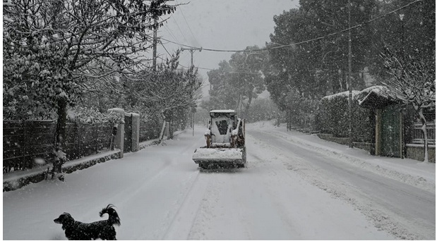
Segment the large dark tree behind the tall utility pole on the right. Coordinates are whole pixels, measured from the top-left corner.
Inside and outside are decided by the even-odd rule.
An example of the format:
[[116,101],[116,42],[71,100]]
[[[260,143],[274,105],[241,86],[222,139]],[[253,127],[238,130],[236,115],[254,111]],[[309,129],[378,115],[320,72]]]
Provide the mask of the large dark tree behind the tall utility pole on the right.
[[[375,0],[351,1],[351,25],[370,20],[375,13]],[[270,63],[282,72],[284,79],[305,96],[321,98],[347,89],[348,1],[301,1],[299,8],[274,16],[275,31],[267,47]],[[371,47],[369,25],[352,30],[352,87],[364,87],[359,73],[366,67]],[[337,33],[337,34],[334,34]],[[318,39],[319,38],[319,39]],[[317,41],[308,41],[318,39]],[[296,45],[283,47],[282,45]]]

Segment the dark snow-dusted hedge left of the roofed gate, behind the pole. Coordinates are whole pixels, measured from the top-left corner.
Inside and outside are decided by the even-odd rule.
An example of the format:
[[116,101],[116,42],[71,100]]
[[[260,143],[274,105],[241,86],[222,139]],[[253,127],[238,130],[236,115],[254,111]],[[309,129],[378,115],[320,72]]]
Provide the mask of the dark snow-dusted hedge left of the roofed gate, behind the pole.
[[[354,142],[374,142],[375,117],[373,111],[359,106],[352,92],[352,135]],[[316,127],[322,133],[349,137],[349,92],[341,92],[321,99]]]

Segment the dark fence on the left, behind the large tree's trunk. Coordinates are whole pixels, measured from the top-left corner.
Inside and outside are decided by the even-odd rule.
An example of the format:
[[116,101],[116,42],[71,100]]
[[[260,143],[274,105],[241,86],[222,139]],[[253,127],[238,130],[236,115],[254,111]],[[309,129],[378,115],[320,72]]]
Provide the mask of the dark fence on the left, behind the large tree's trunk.
[[[64,152],[69,160],[109,148],[112,125],[68,123],[66,128]],[[55,137],[56,121],[4,121],[3,173],[33,168],[54,159]]]

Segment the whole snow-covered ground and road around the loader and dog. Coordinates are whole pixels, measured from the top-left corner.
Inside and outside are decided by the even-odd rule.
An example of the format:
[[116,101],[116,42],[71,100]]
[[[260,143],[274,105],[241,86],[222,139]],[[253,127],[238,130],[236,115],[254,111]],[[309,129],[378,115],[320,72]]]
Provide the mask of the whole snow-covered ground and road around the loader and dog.
[[[200,171],[204,128],[124,159],[3,193],[4,240],[65,240],[53,219],[100,220],[116,206],[119,240],[436,238],[436,166],[246,125],[247,168]],[[107,216],[104,216],[107,218]]]

